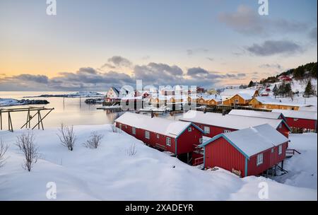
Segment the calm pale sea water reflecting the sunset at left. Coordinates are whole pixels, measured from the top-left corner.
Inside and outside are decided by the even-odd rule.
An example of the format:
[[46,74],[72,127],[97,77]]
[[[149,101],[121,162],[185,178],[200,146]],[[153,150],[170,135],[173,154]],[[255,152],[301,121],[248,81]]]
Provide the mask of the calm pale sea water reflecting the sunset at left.
[[[61,95],[75,92],[4,92],[0,91],[0,98],[23,99],[25,96],[36,96],[42,94]],[[104,93],[105,92],[100,92]],[[35,107],[55,108],[44,120],[44,127],[59,127],[61,123],[67,125],[83,124],[107,124],[114,122],[122,112],[110,112],[107,110],[97,110],[101,105],[88,105],[84,101],[86,98],[29,98],[30,100],[48,100],[47,105],[32,105]],[[12,106],[5,108],[25,108],[29,105]],[[42,116],[45,112],[41,113]],[[26,122],[26,112],[13,112],[11,114],[13,129],[20,129]],[[33,124],[35,125],[36,120]],[[31,124],[32,125],[32,124]],[[8,117],[3,114],[4,129],[8,129]]]

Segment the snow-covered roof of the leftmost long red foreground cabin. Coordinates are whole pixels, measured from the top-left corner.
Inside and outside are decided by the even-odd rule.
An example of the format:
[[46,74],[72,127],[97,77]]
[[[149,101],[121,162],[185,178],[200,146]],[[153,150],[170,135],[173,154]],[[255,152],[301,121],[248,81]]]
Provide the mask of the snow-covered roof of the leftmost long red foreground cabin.
[[187,129],[191,122],[181,122],[175,120],[167,120],[159,117],[148,115],[141,115],[132,112],[125,112],[122,116],[118,117],[115,122],[127,124],[131,127],[145,129],[150,132],[164,134],[173,138],[181,134],[184,129]]

